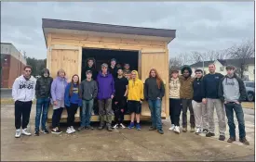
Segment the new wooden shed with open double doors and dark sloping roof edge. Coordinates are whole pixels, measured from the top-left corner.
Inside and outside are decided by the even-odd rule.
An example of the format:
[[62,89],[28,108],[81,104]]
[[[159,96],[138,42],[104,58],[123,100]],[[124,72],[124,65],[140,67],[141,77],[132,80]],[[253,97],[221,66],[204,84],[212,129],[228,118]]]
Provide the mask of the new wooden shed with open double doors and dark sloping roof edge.
[[[93,56],[97,65],[115,57],[128,62],[137,69],[141,81],[155,68],[166,84],[166,95],[162,103],[162,118],[168,113],[168,44],[175,38],[175,30],[128,27],[109,24],[78,22],[59,19],[43,19],[47,44],[47,69],[56,77],[58,69],[64,69],[71,78],[81,76],[86,59]],[[49,108],[48,118],[52,117]],[[64,110],[61,118],[66,118]],[[149,119],[150,110],[146,102],[142,105],[141,119]],[[92,116],[97,121],[98,116]],[[79,111],[75,120],[79,120]],[[125,116],[129,120],[129,115]]]

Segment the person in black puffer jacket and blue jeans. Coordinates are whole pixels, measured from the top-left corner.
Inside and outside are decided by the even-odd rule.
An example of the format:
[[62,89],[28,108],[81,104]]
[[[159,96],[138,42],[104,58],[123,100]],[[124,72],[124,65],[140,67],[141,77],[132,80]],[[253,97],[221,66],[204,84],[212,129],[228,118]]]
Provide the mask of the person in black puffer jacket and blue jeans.
[[39,125],[41,120],[41,113],[43,110],[41,129],[44,133],[48,133],[46,122],[47,112],[50,103],[50,86],[53,79],[49,76],[49,70],[43,69],[41,78],[37,79],[35,84],[35,95],[36,95],[36,115],[35,115],[35,131],[34,135],[39,135]]

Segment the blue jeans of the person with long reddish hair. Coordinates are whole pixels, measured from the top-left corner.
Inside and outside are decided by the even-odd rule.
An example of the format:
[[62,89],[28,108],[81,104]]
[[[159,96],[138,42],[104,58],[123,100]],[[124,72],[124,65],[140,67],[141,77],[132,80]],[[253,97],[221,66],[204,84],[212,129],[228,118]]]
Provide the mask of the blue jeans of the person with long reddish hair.
[[157,130],[162,130],[162,100],[148,100],[149,109],[151,111],[152,127]]

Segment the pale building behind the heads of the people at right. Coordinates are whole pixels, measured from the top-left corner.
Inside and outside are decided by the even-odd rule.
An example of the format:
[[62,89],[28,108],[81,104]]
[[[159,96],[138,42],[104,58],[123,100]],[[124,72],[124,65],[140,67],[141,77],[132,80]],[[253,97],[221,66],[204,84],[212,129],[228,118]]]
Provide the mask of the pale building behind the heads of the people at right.
[[[203,62],[196,62],[195,64],[192,64],[190,67],[193,71],[193,76],[195,76],[195,69],[204,69],[205,74],[209,73],[208,66],[209,64],[214,64],[216,67],[216,72],[221,73],[222,75],[226,75],[226,66],[227,65],[233,65],[236,67],[236,69],[240,69],[242,63],[245,64],[245,70],[244,70],[244,81],[254,81],[254,75],[255,75],[255,62],[254,57],[248,58],[248,59],[217,59],[215,61],[204,61]],[[204,68],[203,68],[204,67]],[[239,70],[237,70],[239,72]]]

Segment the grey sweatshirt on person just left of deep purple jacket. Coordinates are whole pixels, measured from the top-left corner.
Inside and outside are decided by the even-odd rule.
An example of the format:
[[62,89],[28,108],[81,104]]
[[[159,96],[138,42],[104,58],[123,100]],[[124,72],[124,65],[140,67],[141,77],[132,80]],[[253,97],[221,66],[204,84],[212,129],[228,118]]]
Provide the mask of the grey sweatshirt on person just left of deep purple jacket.
[[98,85],[96,81],[82,81],[80,84],[80,93],[83,100],[91,100],[97,97]]

